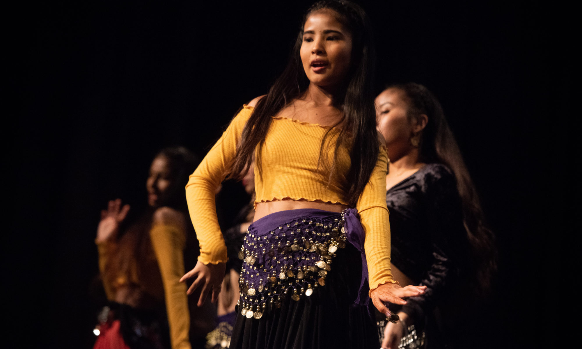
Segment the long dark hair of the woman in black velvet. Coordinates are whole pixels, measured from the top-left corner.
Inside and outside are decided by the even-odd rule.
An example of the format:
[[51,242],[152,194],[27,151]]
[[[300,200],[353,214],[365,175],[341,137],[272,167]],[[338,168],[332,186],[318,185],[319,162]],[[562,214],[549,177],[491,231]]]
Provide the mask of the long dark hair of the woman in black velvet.
[[445,113],[437,97],[428,88],[417,83],[395,84],[395,88],[408,98],[408,117],[425,114],[427,126],[420,137],[419,160],[425,163],[442,163],[455,175],[457,190],[463,209],[463,225],[472,247],[475,291],[485,295],[491,289],[492,275],[496,270],[494,234],[485,224],[481,202],[469,170],[463,161],[459,146],[446,122]]

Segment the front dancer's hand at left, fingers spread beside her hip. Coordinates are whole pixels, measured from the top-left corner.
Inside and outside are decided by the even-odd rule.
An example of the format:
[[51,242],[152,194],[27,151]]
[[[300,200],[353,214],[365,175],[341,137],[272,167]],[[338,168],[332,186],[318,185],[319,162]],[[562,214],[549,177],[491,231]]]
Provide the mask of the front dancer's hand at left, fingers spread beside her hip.
[[222,289],[222,280],[224,279],[225,270],[225,263],[204,264],[203,262],[198,261],[194,269],[182,276],[180,282],[185,282],[187,279],[193,277],[195,278],[186,293],[190,295],[198,287],[202,286],[200,298],[198,299],[198,307],[202,307],[210,291],[212,291],[212,302],[215,303],[218,300],[218,294]]

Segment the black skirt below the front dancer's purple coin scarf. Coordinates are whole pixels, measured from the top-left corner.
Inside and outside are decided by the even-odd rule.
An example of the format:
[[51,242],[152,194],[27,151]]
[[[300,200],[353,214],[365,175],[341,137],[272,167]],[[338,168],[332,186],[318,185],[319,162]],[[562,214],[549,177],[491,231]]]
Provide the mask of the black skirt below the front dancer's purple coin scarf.
[[325,285],[314,287],[310,297],[296,301],[288,294],[280,298],[280,308],[268,304],[260,319],[242,316],[237,307],[230,348],[378,349],[371,302],[355,303],[361,273],[360,251],[347,243],[333,258]]

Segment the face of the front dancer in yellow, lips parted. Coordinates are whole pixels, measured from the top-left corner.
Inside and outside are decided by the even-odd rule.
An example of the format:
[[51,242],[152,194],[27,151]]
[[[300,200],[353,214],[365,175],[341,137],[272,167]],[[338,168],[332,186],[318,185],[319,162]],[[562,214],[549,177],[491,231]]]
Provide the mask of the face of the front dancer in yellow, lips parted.
[[352,56],[352,33],[333,10],[319,10],[303,26],[301,62],[307,79],[318,86],[335,86],[346,78]]

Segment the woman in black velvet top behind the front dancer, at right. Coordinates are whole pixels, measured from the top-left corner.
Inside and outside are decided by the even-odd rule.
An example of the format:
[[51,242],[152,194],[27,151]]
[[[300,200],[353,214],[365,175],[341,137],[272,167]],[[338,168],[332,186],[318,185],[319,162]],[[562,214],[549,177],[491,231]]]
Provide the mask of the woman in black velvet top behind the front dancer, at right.
[[382,348],[398,348],[412,326],[419,339],[426,333],[429,348],[451,347],[455,334],[446,328],[445,304],[467,283],[477,294],[487,292],[495,270],[493,235],[434,95],[407,83],[386,88],[375,102],[389,157],[392,272],[402,286],[428,287],[398,312],[402,321],[388,322]]

